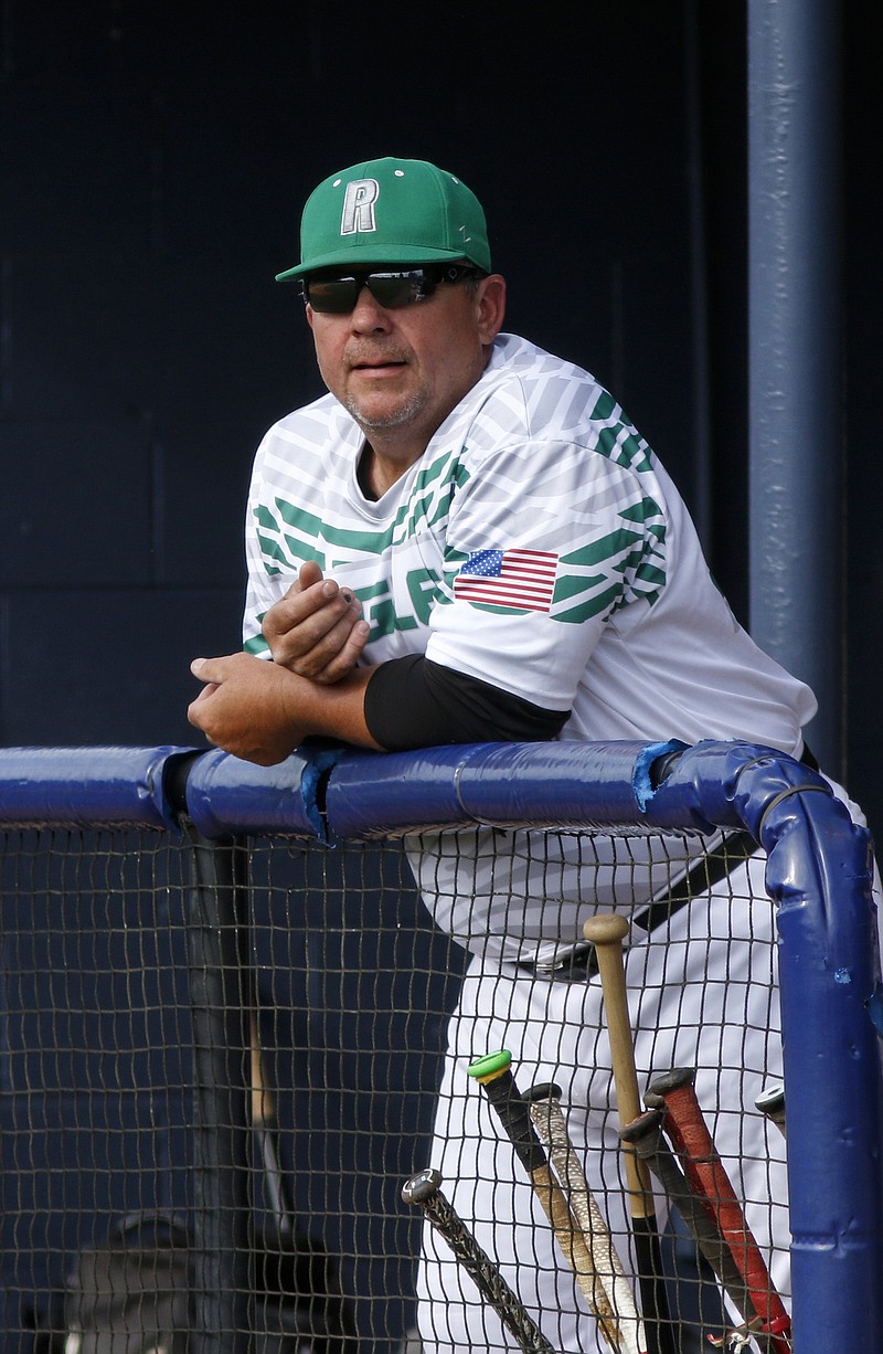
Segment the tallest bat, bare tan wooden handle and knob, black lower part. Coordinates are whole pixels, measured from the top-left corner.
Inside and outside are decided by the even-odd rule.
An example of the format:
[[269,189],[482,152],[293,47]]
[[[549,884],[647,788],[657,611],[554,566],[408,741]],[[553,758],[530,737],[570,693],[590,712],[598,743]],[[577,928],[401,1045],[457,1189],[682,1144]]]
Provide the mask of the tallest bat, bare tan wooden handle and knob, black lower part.
[[[641,1113],[622,953],[622,941],[627,930],[629,923],[618,913],[599,913],[591,917],[583,927],[586,940],[592,942],[598,956],[621,1128],[625,1128]],[[648,1343],[652,1354],[677,1354],[665,1290],[650,1174],[630,1143],[622,1144],[622,1155]]]

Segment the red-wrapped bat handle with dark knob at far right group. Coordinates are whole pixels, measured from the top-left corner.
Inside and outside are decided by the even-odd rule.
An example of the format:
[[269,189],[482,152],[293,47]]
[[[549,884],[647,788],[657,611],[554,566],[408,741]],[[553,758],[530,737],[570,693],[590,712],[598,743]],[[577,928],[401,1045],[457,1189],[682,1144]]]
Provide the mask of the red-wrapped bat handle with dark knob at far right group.
[[772,1286],[769,1270],[703,1118],[694,1089],[695,1076],[695,1068],[675,1068],[657,1078],[650,1093],[665,1102],[665,1132],[683,1160],[687,1178],[717,1217],[771,1349],[776,1354],[791,1354],[791,1317]]

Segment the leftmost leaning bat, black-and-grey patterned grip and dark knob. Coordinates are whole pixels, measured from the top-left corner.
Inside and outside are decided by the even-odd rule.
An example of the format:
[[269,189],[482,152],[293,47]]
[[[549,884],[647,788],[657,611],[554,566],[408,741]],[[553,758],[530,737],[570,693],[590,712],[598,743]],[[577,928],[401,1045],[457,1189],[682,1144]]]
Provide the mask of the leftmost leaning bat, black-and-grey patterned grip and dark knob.
[[491,1304],[525,1354],[554,1354],[552,1345],[521,1298],[508,1286],[494,1261],[441,1192],[441,1174],[431,1167],[418,1171],[402,1186],[406,1204],[415,1204],[454,1252],[460,1265]]

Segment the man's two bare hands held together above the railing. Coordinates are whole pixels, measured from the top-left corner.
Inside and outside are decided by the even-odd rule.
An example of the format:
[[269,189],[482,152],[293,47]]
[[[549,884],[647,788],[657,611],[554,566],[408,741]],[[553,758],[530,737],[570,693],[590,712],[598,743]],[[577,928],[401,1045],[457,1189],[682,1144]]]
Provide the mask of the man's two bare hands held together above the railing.
[[308,734],[334,731],[316,727],[316,696],[353,672],[369,626],[358,598],[310,562],[266,612],[262,632],[272,663],[243,653],[193,659],[206,686],[187,716],[215,746],[272,766]]

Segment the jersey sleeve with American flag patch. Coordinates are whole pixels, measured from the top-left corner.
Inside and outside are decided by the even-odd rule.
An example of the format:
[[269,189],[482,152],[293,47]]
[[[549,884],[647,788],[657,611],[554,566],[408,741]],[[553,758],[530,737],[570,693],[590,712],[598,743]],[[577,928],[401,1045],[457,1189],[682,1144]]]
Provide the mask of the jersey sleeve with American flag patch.
[[665,585],[667,519],[646,444],[525,441],[475,466],[452,506],[426,650],[544,708],[569,709],[604,624]]

